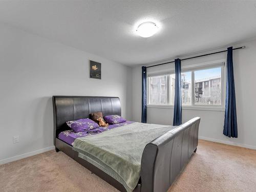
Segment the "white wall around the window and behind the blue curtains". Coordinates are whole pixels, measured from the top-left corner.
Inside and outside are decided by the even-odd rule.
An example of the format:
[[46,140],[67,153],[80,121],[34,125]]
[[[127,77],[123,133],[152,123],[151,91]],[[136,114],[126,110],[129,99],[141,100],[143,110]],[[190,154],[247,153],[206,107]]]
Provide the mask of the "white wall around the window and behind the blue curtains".
[[[228,138],[223,135],[224,111],[183,109],[182,122],[199,116],[201,117],[199,129],[199,137],[201,139],[256,149],[256,41],[244,42],[243,44],[234,45],[233,47],[236,48],[241,46],[246,46],[246,49],[233,51],[234,78],[236,82],[237,97],[238,138]],[[181,65],[184,67],[219,59],[226,59],[226,53],[182,61]],[[174,68],[173,64],[159,66],[154,69],[148,68],[148,70],[154,71],[171,68]],[[133,68],[133,120],[140,121],[140,119],[141,66],[138,66]],[[148,108],[147,122],[172,124],[173,109]]]

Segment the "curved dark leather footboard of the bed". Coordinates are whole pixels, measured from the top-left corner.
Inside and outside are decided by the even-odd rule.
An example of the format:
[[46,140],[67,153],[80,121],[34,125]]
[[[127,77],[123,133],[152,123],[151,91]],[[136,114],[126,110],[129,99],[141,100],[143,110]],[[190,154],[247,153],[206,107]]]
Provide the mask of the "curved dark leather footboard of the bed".
[[141,160],[141,191],[166,192],[198,145],[195,117],[148,143]]

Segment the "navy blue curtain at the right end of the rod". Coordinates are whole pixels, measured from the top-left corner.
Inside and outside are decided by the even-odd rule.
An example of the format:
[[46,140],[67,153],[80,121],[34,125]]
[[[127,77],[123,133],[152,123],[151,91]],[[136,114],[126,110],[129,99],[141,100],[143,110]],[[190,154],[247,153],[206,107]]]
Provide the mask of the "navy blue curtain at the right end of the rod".
[[233,48],[227,48],[226,106],[223,134],[238,137],[236,92],[234,91]]

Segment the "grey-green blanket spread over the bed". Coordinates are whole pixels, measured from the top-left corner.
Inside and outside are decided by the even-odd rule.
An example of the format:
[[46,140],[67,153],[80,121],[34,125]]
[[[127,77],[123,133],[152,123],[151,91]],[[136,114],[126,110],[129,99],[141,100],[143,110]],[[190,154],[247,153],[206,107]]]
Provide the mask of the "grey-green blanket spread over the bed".
[[79,157],[97,166],[133,191],[140,178],[140,164],[147,143],[175,126],[132,123],[103,133],[80,137],[73,149]]

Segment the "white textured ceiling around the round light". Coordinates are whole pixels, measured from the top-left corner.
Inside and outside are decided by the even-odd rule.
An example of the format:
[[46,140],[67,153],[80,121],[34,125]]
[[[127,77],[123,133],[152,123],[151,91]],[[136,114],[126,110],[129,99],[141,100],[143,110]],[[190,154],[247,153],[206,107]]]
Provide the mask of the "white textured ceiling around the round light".
[[0,22],[131,66],[255,37],[256,1],[1,1]]

